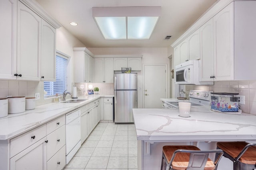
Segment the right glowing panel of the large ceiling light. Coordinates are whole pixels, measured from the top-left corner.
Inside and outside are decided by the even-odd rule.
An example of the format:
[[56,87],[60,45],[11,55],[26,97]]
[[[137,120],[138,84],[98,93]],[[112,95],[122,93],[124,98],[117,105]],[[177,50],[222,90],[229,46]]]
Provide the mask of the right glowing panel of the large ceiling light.
[[149,39],[158,17],[128,17],[128,39]]

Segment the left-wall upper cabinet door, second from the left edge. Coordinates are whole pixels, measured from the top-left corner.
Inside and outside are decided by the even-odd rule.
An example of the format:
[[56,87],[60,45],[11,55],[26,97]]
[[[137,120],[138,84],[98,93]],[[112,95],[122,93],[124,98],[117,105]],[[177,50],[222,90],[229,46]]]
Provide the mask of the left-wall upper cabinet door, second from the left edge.
[[18,1],[18,80],[40,80],[41,18]]

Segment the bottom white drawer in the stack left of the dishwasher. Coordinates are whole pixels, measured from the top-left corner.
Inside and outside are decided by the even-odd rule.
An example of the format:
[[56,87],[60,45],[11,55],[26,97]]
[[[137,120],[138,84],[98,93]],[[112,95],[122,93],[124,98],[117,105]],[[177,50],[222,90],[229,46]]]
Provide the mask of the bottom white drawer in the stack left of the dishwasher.
[[62,170],[66,165],[66,145],[47,162],[47,170]]

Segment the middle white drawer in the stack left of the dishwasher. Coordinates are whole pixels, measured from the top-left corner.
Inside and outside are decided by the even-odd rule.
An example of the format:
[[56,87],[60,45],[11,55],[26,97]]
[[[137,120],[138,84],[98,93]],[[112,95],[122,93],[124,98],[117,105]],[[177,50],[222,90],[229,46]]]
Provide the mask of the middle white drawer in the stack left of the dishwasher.
[[65,125],[47,135],[47,160],[49,160],[66,143]]

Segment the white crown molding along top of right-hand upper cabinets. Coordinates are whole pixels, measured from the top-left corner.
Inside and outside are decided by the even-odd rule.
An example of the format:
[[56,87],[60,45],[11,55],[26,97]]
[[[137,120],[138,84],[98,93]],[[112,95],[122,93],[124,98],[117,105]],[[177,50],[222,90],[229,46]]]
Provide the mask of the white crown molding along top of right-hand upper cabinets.
[[224,9],[228,4],[230,4],[234,0],[219,0],[214,3],[202,16],[194,22],[194,24],[189,27],[185,33],[183,33],[174,43],[172,43],[172,47],[176,47],[179,43],[181,43],[184,39],[186,39],[191,33],[196,31],[199,27],[204,25],[208,20],[210,20],[213,16],[215,16],[218,12]]

